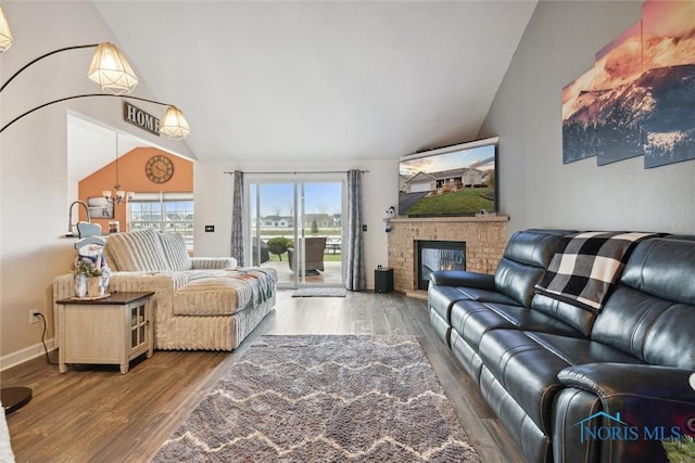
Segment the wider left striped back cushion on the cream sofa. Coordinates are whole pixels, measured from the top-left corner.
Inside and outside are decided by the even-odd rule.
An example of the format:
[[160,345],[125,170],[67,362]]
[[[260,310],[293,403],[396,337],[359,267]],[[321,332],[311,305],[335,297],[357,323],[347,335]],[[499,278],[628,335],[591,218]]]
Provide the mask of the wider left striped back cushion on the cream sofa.
[[153,229],[109,235],[110,256],[121,271],[168,271],[159,232]]

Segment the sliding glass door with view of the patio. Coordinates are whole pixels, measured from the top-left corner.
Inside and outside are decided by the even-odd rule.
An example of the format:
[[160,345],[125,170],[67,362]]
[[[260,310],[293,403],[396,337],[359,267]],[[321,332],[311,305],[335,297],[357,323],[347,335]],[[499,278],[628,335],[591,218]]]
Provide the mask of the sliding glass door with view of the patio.
[[343,177],[247,175],[250,261],[280,287],[343,285]]

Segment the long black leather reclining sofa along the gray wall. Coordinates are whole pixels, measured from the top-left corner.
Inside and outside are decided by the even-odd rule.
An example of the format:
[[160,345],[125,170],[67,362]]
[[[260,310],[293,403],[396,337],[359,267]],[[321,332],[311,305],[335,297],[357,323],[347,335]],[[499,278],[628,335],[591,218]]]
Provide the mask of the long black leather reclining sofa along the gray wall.
[[528,461],[667,462],[695,436],[695,236],[639,242],[590,310],[535,287],[571,233],[515,233],[494,275],[433,272],[431,322]]

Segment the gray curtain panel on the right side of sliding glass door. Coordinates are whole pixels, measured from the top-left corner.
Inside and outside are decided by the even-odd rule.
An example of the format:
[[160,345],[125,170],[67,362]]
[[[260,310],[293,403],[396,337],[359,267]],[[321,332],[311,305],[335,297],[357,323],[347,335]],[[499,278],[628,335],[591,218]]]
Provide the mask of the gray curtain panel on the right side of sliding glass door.
[[362,232],[362,171],[348,171],[348,237],[345,249],[344,281],[350,291],[367,288],[365,249]]

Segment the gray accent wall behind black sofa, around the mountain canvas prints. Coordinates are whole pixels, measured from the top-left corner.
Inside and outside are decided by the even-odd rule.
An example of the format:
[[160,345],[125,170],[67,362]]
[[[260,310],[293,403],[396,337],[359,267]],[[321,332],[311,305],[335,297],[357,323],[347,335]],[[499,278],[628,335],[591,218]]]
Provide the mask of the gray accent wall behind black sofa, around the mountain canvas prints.
[[508,236],[549,227],[695,234],[695,160],[655,169],[644,169],[642,156],[563,165],[563,87],[590,69],[641,10],[641,1],[538,3],[479,133],[500,136]]

